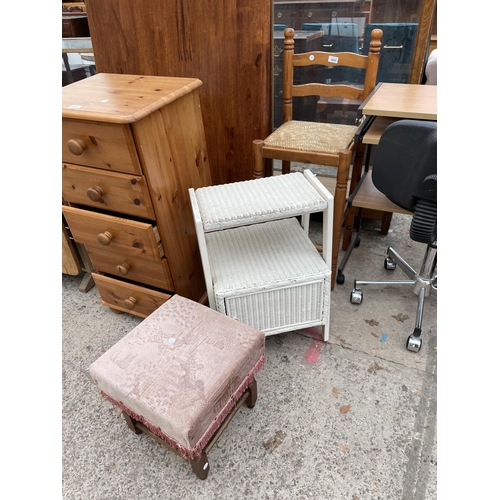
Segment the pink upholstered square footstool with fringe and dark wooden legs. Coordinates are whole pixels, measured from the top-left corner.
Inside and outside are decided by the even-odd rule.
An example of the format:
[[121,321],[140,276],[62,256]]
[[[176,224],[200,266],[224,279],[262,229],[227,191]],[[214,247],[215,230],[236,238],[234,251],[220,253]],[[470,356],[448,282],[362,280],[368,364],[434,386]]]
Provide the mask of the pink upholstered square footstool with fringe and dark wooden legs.
[[236,411],[257,398],[262,332],[175,295],[90,366],[128,426],[188,460],[201,479],[207,453]]

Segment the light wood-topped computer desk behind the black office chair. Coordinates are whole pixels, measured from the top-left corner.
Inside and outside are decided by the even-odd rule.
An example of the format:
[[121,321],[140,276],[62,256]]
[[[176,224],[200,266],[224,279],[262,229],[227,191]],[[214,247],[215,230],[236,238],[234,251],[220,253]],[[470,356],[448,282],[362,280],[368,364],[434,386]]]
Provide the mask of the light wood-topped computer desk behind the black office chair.
[[[379,83],[365,99],[358,110],[358,116],[365,116],[357,132],[356,140],[367,144],[365,170],[369,167],[371,147],[376,146],[384,130],[397,120],[437,120],[437,86],[405,83]],[[361,172],[353,172],[350,192],[356,187]],[[380,210],[387,204],[381,204]],[[383,210],[384,211],[384,210]],[[387,234],[392,212],[382,217],[382,234]],[[346,216],[342,238],[342,249],[347,250],[352,236],[354,212]]]

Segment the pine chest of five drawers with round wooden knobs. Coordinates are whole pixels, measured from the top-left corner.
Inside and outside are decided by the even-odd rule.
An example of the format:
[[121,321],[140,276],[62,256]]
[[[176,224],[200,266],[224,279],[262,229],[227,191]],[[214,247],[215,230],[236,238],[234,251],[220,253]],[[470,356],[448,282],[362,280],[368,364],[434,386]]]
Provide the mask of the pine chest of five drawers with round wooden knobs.
[[201,84],[100,73],[62,89],[62,210],[116,312],[206,298],[188,194],[211,184]]

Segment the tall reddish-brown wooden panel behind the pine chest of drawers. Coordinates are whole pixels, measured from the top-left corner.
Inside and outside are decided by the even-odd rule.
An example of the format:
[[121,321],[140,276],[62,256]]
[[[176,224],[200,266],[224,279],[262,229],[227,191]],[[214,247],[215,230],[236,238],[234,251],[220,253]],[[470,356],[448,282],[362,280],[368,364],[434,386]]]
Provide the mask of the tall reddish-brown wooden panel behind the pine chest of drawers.
[[271,132],[269,0],[87,0],[98,72],[199,78],[214,183],[253,177]]

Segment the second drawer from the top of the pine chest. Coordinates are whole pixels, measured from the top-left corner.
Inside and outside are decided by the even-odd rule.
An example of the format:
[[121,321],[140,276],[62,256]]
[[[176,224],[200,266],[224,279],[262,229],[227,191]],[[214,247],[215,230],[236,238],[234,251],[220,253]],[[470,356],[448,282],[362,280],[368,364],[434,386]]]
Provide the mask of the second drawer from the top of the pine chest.
[[146,180],[142,176],[63,163],[62,195],[70,203],[155,219]]

